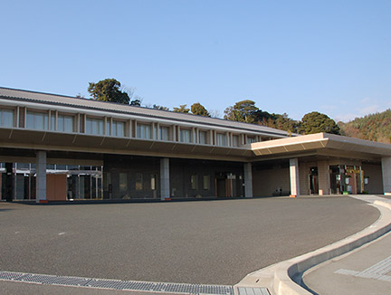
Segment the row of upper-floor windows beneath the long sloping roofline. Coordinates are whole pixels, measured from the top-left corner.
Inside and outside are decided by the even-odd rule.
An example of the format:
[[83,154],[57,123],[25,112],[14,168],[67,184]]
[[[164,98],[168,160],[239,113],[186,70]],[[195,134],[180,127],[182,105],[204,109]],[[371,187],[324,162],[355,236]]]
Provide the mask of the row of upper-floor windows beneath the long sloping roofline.
[[[20,111],[22,115],[22,111]],[[220,147],[240,147],[245,143],[257,141],[255,136],[241,134],[222,133],[214,130],[202,130],[198,128],[182,128],[180,126],[164,126],[154,123],[130,122],[117,119],[100,119],[86,115],[62,114],[57,111],[40,112],[26,109],[25,128],[35,130],[51,130],[66,133],[81,132],[85,134],[113,137],[134,137],[141,139],[157,139],[164,141],[179,141],[182,143],[197,143],[203,145],[216,145]],[[0,127],[14,127],[21,125],[16,122],[15,109],[0,109]],[[15,124],[16,123],[16,124]],[[132,125],[133,124],[133,125]],[[134,131],[130,132],[134,126]]]

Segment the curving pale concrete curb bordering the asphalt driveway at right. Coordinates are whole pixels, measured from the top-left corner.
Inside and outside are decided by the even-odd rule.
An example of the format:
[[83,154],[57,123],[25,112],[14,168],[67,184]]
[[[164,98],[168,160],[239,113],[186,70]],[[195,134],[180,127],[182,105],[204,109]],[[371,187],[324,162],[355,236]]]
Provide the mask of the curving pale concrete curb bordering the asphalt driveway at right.
[[374,224],[361,232],[352,234],[336,243],[331,243],[313,252],[309,252],[287,261],[279,262],[259,271],[254,271],[236,284],[238,287],[268,288],[275,295],[310,295],[300,287],[301,275],[311,267],[334,257],[350,252],[365,243],[377,239],[391,230],[391,203],[375,201],[380,217]]

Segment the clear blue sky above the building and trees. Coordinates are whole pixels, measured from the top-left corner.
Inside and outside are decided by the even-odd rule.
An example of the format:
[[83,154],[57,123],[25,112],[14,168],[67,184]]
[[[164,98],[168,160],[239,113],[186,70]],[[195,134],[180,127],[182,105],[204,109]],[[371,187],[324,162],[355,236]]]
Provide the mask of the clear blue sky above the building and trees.
[[293,119],[391,108],[391,1],[0,0],[0,86],[145,104],[254,100]]

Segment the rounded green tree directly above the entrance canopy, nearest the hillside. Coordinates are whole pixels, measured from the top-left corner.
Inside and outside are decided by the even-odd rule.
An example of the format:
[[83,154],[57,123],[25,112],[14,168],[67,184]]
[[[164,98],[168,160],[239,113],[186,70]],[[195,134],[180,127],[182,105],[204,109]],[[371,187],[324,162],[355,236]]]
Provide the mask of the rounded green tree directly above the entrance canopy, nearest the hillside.
[[301,134],[313,134],[319,132],[340,134],[337,123],[329,116],[318,111],[305,114],[300,121],[299,131]]

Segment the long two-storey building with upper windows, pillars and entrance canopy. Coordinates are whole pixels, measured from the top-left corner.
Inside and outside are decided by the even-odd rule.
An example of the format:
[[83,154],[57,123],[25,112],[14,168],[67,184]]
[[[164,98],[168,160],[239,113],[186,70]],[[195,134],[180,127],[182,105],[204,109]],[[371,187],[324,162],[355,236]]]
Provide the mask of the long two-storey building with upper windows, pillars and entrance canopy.
[[1,198],[391,192],[391,146],[0,88]]

